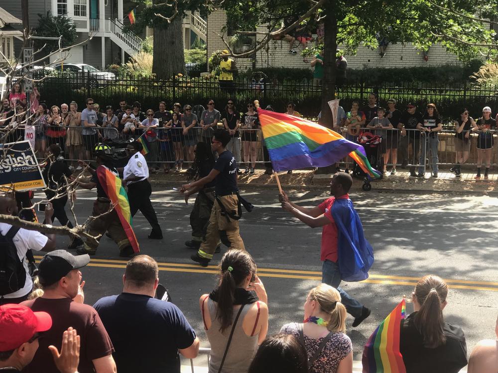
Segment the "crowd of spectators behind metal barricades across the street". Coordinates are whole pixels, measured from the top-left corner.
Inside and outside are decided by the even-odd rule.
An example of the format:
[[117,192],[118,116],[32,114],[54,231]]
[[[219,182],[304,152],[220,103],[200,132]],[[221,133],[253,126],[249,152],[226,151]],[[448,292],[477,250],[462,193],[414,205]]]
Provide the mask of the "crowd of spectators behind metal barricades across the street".
[[[318,54],[314,64],[321,65],[321,58],[322,55]],[[206,100],[206,107],[174,103],[168,109],[166,103],[160,101],[153,109],[142,108],[140,102],[128,103],[126,100],[120,101],[119,108],[112,105],[101,108],[92,98],[88,98],[85,107],[79,111],[78,103],[74,101],[61,103],[60,107],[47,107],[40,101],[36,90],[30,94],[27,110],[26,98],[21,84],[17,83],[2,100],[2,132],[8,132],[7,139],[11,142],[29,139],[40,158],[44,158],[50,145],[58,144],[62,155],[72,162],[71,171],[81,170],[76,160],[91,159],[98,143],[124,148],[126,140],[142,137],[147,144],[146,160],[151,173],[161,167],[165,173],[180,172],[191,167],[197,142],[209,144],[213,130],[220,126],[230,132],[228,149],[242,165],[238,169],[239,175],[254,174],[256,163],[261,161],[266,173],[272,172],[260,131],[257,100],[239,103],[229,99],[224,103],[224,109],[219,110],[212,99]],[[366,148],[370,153],[370,163],[385,176],[396,174],[396,167],[409,166],[411,177],[424,178],[430,169],[431,177],[437,178],[443,126],[436,105],[429,103],[422,108],[408,103],[406,107],[397,108],[396,104],[396,99],[390,98],[386,108],[379,107],[377,96],[371,93],[364,106],[359,101],[353,101],[349,110],[339,106],[333,128],[350,141],[368,143]],[[274,110],[270,105],[266,109]],[[289,115],[301,116],[293,102],[282,109]],[[318,118],[320,124],[331,126],[321,120],[321,113]],[[442,160],[453,166],[450,171],[455,177],[461,176],[462,166],[476,152],[475,178],[489,178],[497,119],[498,115],[493,116],[489,106],[484,107],[482,113],[475,113],[474,117],[462,108],[454,120],[454,131],[451,133],[454,158]],[[352,159],[346,157],[342,163],[347,173],[356,173]]]

